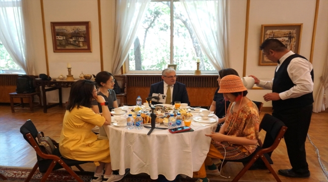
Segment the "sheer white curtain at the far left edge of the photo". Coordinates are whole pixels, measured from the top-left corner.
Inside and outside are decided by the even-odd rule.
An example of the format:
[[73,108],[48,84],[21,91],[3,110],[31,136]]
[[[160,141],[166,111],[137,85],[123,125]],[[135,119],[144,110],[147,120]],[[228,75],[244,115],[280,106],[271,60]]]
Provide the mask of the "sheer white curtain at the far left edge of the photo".
[[[23,1],[25,2],[23,3]],[[27,55],[32,46],[30,46],[31,41],[26,39],[26,37],[31,35],[28,34],[26,36],[25,32],[25,24],[28,25],[28,22],[24,23],[24,20],[28,19],[25,3],[27,3],[26,0],[0,0],[0,40],[13,58],[13,61],[26,74],[34,75],[32,56]],[[29,47],[29,50],[27,50],[27,47]],[[30,53],[33,54],[33,52]]]

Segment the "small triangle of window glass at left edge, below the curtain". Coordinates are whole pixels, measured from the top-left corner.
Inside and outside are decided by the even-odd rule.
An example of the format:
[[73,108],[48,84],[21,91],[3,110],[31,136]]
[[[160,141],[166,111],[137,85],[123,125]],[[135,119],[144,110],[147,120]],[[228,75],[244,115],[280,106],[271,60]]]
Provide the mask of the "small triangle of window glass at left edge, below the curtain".
[[13,61],[4,44],[0,40],[0,73],[22,71],[21,68]]

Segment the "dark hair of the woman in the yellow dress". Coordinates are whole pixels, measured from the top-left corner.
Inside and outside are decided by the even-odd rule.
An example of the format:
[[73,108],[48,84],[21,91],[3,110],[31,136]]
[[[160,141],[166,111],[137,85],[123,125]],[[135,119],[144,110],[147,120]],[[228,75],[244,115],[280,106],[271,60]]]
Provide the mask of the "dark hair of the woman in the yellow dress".
[[91,108],[93,98],[93,89],[96,82],[90,80],[78,80],[72,84],[70,98],[68,99],[66,110],[72,111],[75,107],[80,106]]

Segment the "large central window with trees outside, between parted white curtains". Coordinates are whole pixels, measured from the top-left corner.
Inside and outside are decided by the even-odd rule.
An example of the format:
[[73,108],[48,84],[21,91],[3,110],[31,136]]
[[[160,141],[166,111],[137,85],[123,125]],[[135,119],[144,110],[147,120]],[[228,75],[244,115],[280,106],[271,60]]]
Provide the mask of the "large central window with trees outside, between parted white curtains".
[[159,72],[176,64],[177,72],[193,73],[197,57],[200,70],[214,72],[179,1],[153,1],[145,11],[130,48],[128,72]]

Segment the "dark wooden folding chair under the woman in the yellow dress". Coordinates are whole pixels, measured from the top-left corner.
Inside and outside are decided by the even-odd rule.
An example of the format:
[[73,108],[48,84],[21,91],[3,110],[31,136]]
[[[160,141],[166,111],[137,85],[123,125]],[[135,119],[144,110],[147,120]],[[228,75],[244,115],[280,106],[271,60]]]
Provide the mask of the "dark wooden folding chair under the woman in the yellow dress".
[[23,134],[24,139],[33,147],[36,152],[36,155],[38,156],[38,161],[35,163],[32,171],[27,176],[25,182],[30,181],[37,168],[39,168],[39,171],[41,173],[44,173],[42,175],[41,182],[44,182],[47,179],[52,170],[57,170],[61,168],[65,168],[77,181],[83,182],[83,180],[70,168],[70,166],[76,166],[80,171],[84,171],[79,166],[79,164],[84,164],[89,161],[66,159],[62,157],[58,148],[56,148],[52,152],[53,155],[43,153],[35,140],[38,131],[30,119],[27,120],[25,124],[21,126],[20,131]]

